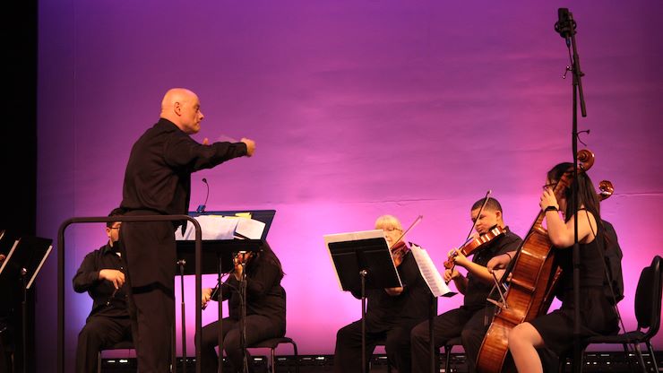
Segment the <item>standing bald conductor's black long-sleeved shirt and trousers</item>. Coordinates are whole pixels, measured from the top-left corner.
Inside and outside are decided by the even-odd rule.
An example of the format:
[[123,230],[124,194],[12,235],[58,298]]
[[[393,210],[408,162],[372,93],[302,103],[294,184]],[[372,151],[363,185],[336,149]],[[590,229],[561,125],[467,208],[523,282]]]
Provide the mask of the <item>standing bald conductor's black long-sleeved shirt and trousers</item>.
[[[244,155],[244,143],[196,143],[175,124],[160,118],[133,144],[120,207],[127,216],[186,214],[191,174]],[[125,221],[120,230],[141,373],[165,372],[170,363],[170,330],[175,323],[175,228],[180,223]]]

